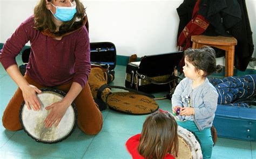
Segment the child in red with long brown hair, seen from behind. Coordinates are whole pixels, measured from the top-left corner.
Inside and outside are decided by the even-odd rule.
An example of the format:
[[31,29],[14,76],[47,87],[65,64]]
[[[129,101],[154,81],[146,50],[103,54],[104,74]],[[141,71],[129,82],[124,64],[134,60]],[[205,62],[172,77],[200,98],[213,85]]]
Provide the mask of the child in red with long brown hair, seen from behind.
[[170,158],[178,154],[177,122],[168,112],[151,114],[143,124],[142,134],[132,136],[126,148],[132,158]]

